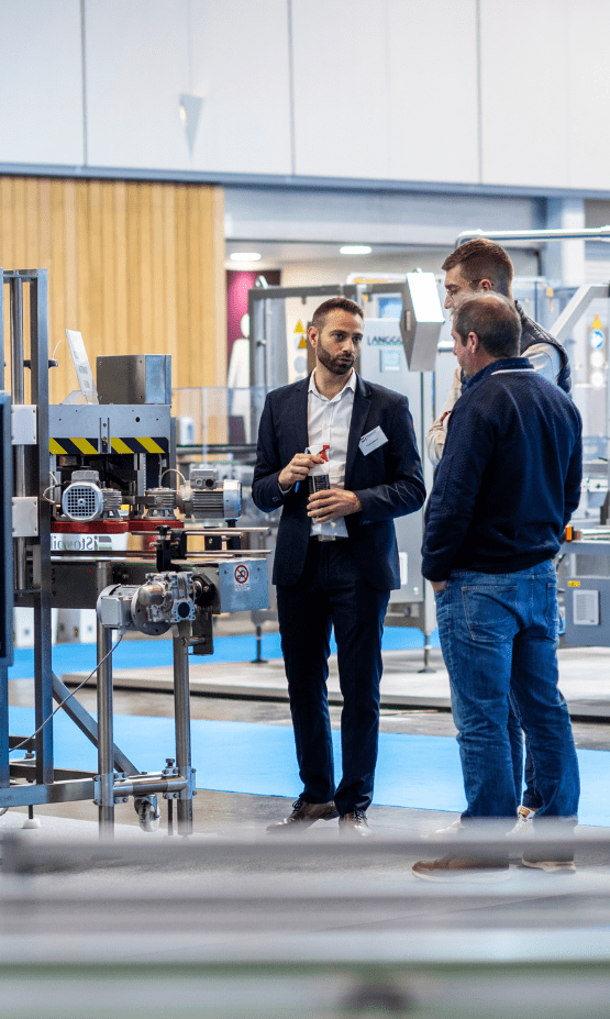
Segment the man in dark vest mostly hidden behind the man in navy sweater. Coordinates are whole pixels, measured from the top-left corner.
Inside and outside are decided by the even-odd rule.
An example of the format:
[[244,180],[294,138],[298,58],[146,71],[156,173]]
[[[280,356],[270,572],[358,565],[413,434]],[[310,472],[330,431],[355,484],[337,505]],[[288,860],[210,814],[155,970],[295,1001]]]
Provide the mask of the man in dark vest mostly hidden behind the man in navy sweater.
[[[474,241],[467,241],[456,247],[443,263],[445,273],[445,308],[455,314],[464,300],[472,298],[474,293],[485,293],[493,291],[508,297],[512,297],[513,266],[508,252],[493,241],[487,237],[477,237]],[[569,394],[572,390],[572,378],[569,370],[569,361],[561,343],[555,340],[551,333],[546,332],[542,325],[530,319],[519,301],[514,301],[514,307],[521,321],[521,340],[519,350],[522,355],[526,355],[535,372],[540,372],[543,378],[550,383],[555,383]],[[464,385],[464,372],[456,367],[447,398],[439,418],[433,422],[425,436],[425,446],[430,462],[436,466],[441,462],[445,448],[445,440],[451,413],[455,403],[459,399]],[[535,787],[535,778],[532,767],[530,753],[528,752],[528,742],[525,736],[525,789],[521,798],[521,786],[523,775],[523,733],[517,721],[517,716],[512,708],[509,710],[509,734],[512,747],[512,764],[514,768],[514,780],[518,786],[518,801],[520,806],[517,810],[518,831],[529,833],[531,822],[539,807],[542,804],[540,794]],[[451,828],[441,829],[437,835],[443,835],[458,829],[462,822],[458,819]]]

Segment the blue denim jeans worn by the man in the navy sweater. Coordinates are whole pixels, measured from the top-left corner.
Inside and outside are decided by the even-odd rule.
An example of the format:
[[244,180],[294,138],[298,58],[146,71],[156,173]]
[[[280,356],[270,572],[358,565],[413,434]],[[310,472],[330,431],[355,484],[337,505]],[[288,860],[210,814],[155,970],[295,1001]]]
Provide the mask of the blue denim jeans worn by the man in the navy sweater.
[[542,806],[572,818],[580,784],[572,726],[557,689],[557,577],[551,562],[510,574],[456,569],[436,595],[464,788],[463,817],[514,822],[509,695]]

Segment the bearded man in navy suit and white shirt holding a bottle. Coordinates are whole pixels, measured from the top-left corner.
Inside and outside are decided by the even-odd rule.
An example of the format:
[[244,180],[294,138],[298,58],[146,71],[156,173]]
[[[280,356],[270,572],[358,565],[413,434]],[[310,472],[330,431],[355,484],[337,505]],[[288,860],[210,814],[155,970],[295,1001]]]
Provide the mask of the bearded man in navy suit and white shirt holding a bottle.
[[[354,301],[324,301],[308,330],[314,370],[268,395],[258,430],[252,496],[266,512],[282,508],[273,579],[303,784],[273,832],[339,816],[343,833],[371,833],[381,633],[389,592],[400,587],[392,521],[418,510],[425,489],[407,398],[354,369],[363,328]],[[326,697],[333,627],[344,701],[336,789]]]

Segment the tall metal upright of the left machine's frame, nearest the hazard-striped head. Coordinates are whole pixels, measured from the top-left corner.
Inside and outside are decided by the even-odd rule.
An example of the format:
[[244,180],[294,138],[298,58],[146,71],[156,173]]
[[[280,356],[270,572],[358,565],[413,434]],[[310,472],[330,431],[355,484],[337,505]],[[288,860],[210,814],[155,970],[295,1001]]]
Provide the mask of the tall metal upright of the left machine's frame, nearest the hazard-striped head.
[[[51,783],[53,775],[53,662],[51,641],[51,503],[43,498],[48,487],[48,290],[46,269],[24,269],[30,280],[31,400],[37,406],[37,443],[27,447],[26,478],[38,499],[38,536],[31,539],[34,590],[34,689],[36,729],[36,782]],[[23,353],[23,348],[21,350]],[[23,364],[21,364],[23,381]],[[23,392],[23,390],[22,390]],[[19,447],[18,447],[19,448]]]

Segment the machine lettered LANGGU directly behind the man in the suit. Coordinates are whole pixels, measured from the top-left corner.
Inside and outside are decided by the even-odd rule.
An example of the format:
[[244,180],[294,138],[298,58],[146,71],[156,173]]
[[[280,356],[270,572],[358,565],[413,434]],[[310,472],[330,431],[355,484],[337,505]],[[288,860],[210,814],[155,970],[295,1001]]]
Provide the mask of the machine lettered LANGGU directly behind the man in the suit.
[[[418,447],[434,409],[434,368],[444,314],[432,273],[408,273],[388,281],[347,283],[323,287],[254,288],[248,295],[252,392],[251,434],[255,435],[269,388],[303,377],[313,366],[307,326],[314,309],[342,295],[365,308],[359,367],[364,378],[403,392],[409,399]],[[288,341],[288,342],[287,342]],[[432,467],[422,458],[426,488]],[[386,623],[414,627],[424,634],[424,668],[430,635],[436,627],[432,589],[421,576],[423,512],[395,521],[401,587],[391,592]]]

